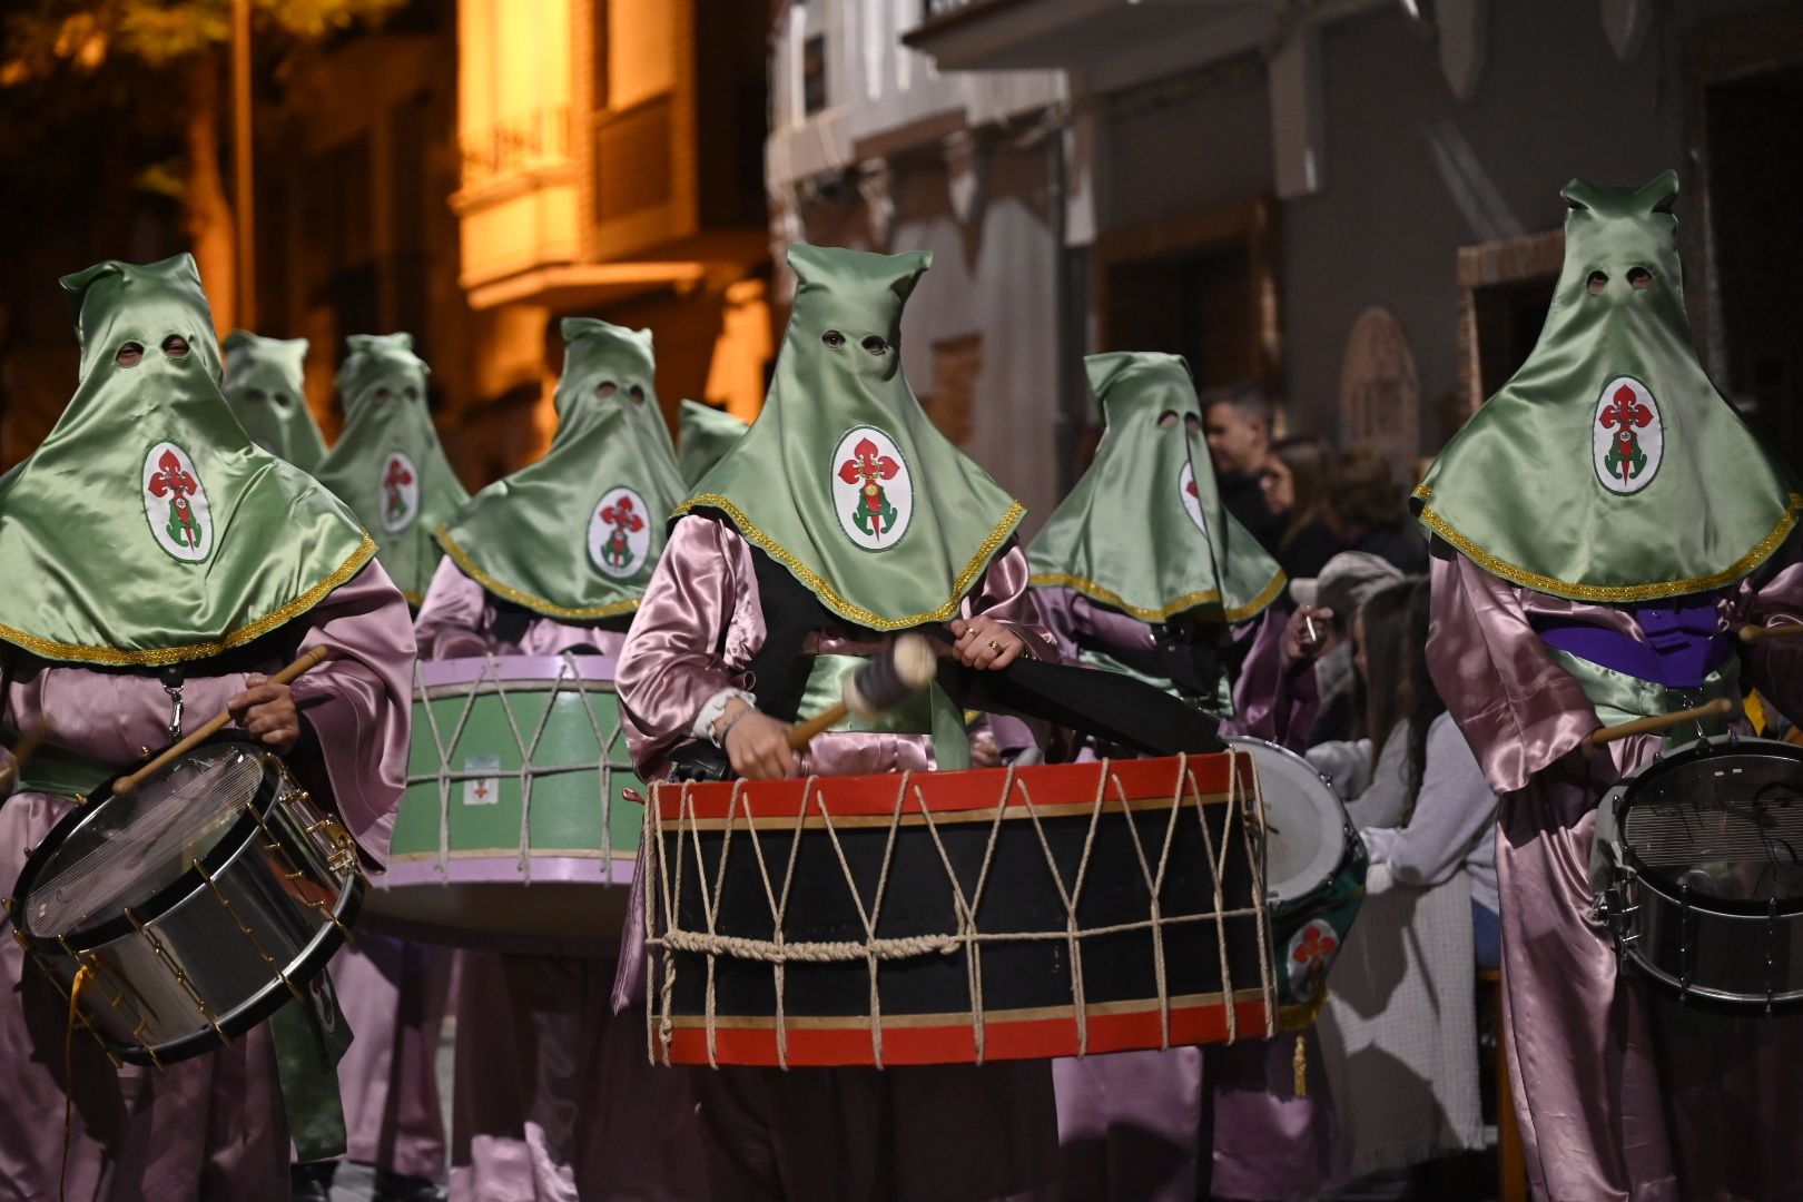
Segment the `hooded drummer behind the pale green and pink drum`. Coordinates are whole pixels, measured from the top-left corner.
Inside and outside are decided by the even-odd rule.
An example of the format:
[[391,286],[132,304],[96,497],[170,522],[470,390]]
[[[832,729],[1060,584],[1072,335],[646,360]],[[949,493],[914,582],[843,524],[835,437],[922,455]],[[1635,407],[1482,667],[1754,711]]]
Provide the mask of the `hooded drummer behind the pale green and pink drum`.
[[[563,323],[557,434],[438,528],[420,651],[618,654],[682,474],[651,333]],[[456,1198],[698,1198],[694,1099],[609,1004],[617,957],[458,955]]]

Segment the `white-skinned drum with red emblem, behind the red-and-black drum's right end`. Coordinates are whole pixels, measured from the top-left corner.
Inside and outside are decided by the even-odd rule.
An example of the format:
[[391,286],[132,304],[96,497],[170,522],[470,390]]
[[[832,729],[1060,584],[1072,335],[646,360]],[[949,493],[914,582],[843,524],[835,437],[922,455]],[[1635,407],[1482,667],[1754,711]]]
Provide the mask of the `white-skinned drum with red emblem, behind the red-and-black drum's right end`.
[[1309,760],[1262,739],[1224,741],[1249,753],[1258,769],[1278,1027],[1307,1025],[1327,1000],[1327,970],[1365,901],[1370,860],[1345,806]]

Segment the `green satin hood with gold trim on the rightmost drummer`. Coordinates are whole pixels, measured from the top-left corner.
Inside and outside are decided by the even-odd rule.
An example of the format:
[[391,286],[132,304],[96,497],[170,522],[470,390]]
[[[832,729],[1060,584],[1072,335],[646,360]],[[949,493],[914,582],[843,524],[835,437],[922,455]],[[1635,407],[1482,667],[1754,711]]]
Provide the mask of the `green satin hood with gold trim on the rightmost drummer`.
[[1504,580],[1587,602],[1679,596],[1747,575],[1796,524],[1796,478],[1697,362],[1677,189],[1671,171],[1639,191],[1565,187],[1540,341],[1415,490],[1421,524]]

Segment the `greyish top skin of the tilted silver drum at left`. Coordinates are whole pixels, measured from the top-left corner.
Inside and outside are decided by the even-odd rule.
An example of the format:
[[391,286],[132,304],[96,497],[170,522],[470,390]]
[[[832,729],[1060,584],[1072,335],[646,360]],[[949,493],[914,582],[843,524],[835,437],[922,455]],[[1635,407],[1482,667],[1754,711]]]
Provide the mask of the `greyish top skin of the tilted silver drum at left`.
[[261,751],[215,742],[126,797],[101,797],[45,849],[22,899],[25,930],[56,939],[144,906],[220,845],[269,779]]

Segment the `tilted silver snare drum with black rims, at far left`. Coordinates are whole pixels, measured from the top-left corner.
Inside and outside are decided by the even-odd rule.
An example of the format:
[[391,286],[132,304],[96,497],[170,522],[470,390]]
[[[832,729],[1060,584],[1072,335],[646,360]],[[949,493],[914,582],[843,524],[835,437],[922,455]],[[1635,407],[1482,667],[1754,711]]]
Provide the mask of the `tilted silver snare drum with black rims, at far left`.
[[7,912],[65,995],[83,973],[76,1016],[114,1056],[166,1065],[307,1000],[361,897],[344,827],[227,733],[70,809]]

